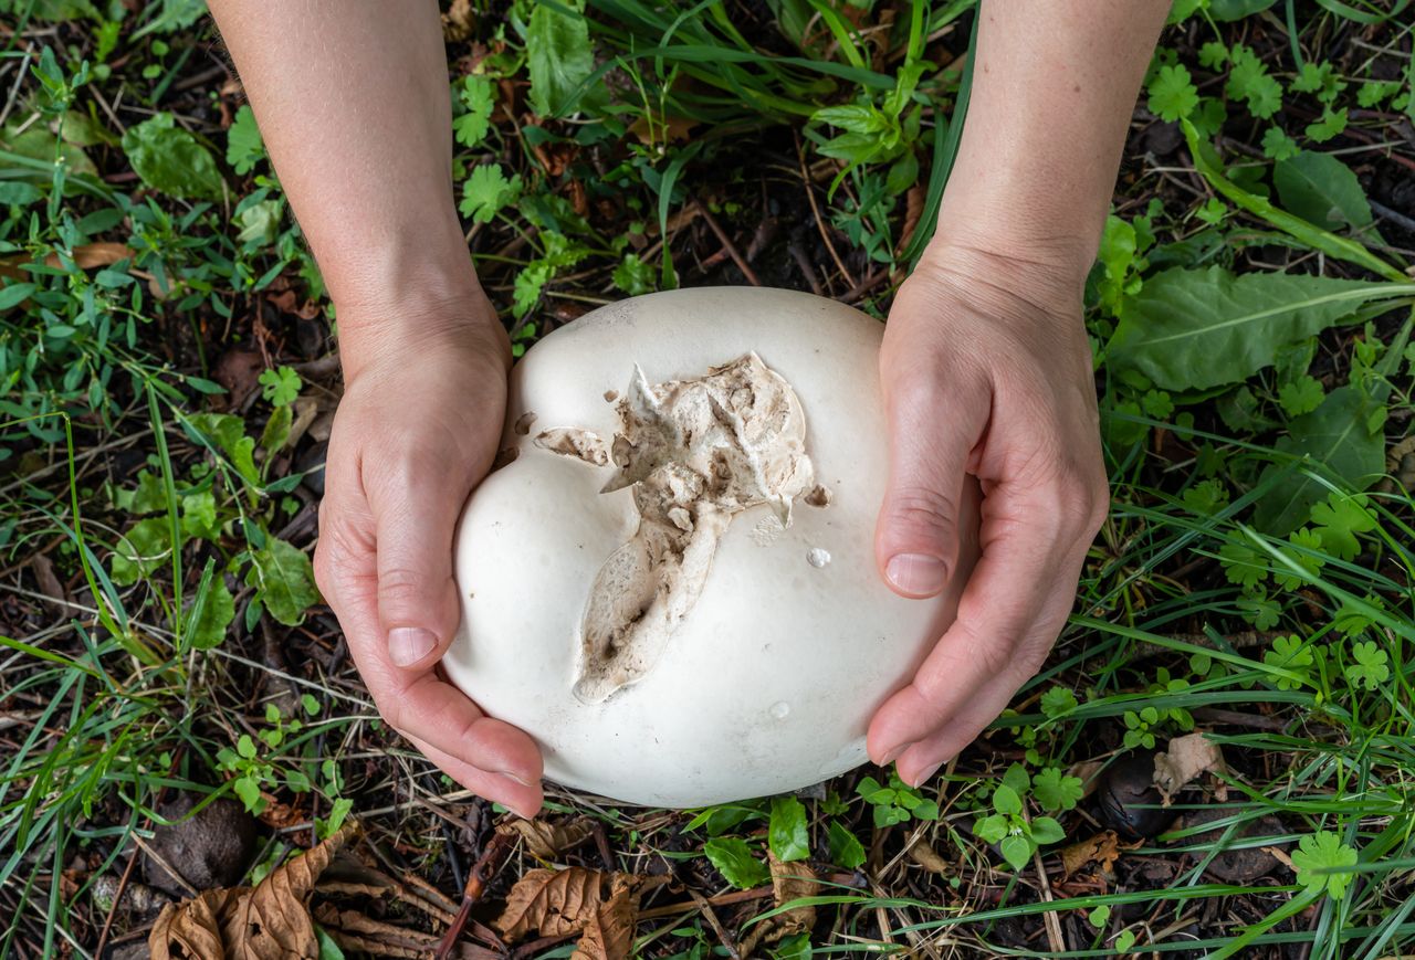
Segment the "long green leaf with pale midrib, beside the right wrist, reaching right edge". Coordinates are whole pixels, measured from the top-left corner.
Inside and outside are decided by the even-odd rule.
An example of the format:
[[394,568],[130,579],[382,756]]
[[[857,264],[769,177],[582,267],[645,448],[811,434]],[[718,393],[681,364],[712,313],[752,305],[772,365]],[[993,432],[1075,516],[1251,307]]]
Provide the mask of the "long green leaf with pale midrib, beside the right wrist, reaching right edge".
[[1411,283],[1176,267],[1125,301],[1107,356],[1166,390],[1238,383],[1361,305],[1409,295]]

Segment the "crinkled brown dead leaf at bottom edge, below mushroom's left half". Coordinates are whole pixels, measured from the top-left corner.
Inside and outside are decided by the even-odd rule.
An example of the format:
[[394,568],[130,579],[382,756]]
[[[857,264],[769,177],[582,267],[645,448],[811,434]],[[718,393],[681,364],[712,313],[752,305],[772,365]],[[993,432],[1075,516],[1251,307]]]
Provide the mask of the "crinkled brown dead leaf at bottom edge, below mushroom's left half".
[[587,867],[532,870],[516,881],[491,926],[508,943],[531,933],[580,936],[576,960],[628,956],[638,919],[638,878]]

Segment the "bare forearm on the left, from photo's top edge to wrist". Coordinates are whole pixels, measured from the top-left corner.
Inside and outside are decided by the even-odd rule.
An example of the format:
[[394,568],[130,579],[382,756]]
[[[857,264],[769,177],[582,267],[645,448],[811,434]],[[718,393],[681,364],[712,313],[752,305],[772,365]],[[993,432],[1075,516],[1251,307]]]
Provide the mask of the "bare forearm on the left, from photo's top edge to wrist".
[[338,308],[345,370],[434,327],[490,321],[453,204],[436,4],[211,10]]

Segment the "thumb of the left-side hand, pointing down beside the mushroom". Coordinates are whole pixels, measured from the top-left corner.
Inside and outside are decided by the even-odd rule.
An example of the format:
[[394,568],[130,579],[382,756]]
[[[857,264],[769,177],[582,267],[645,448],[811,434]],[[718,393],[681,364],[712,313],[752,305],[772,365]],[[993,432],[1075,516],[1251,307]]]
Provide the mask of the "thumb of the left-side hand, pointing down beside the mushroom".
[[396,667],[426,669],[441,657],[461,609],[451,577],[451,540],[461,499],[417,471],[376,510],[378,616]]

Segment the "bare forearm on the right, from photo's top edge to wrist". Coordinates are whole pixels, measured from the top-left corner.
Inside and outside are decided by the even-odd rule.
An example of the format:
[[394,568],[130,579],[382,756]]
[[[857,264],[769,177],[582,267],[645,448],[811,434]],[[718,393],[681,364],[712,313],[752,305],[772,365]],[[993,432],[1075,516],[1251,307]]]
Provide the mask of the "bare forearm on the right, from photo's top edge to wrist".
[[1015,245],[1024,260],[1084,276],[1167,10],[1167,0],[983,0],[941,238]]

